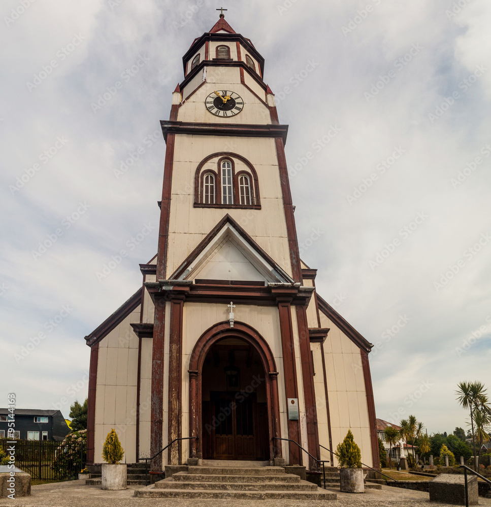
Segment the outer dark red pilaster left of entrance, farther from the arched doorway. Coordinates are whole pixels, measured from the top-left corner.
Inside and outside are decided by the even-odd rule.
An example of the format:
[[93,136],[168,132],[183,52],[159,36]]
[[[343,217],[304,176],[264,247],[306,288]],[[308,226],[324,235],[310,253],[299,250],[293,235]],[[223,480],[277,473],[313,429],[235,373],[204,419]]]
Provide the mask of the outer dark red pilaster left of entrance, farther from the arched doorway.
[[[166,339],[166,301],[155,301],[155,325],[152,343],[152,387],[150,416],[150,455],[157,454],[163,442],[163,365]],[[152,460],[151,469],[162,469],[162,456]]]

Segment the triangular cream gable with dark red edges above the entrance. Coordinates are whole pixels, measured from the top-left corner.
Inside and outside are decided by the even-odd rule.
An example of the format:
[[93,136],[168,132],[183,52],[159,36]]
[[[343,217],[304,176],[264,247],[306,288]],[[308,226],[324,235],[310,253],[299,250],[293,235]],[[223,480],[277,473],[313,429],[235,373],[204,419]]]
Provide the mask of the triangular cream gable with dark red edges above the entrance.
[[230,216],[225,215],[170,277],[293,283]]

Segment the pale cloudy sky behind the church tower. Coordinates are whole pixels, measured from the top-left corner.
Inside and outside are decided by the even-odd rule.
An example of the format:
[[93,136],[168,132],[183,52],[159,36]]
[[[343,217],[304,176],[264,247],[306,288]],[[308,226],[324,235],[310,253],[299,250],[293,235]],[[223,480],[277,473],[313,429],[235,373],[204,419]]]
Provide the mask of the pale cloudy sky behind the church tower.
[[[138,264],[156,253],[159,120],[217,7],[2,3],[0,406],[15,393],[18,408],[68,417],[85,399],[84,336],[141,286]],[[289,125],[301,257],[374,344],[377,417],[467,429],[457,382],[491,393],[491,4],[223,7],[266,59]]]

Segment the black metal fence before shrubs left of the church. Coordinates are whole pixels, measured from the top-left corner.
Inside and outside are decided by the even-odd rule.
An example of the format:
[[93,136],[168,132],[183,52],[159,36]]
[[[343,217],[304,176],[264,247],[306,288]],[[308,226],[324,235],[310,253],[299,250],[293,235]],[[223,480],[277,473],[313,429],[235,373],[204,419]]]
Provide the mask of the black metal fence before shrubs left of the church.
[[[85,468],[86,444],[60,444],[59,442],[2,439],[0,445],[9,455],[15,456],[15,466],[31,475],[32,479],[48,481],[77,479]],[[13,450],[11,449],[13,447]]]

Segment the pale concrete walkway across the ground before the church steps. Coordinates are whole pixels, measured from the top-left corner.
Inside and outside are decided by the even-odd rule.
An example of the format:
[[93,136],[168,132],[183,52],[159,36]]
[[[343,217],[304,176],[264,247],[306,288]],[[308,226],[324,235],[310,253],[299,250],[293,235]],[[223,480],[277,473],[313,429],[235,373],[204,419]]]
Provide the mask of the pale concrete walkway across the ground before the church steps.
[[[230,507],[228,500],[181,500],[158,498],[133,498],[135,488],[124,491],[103,491],[99,486],[85,486],[85,481],[58,482],[32,486],[32,494],[15,500],[0,498],[0,507],[18,505],[22,507]],[[429,494],[390,486],[381,490],[367,490],[364,494],[337,493],[335,501],[300,501],[300,500],[236,500],[234,507],[341,507],[369,506],[374,507],[448,507],[448,504],[429,501]],[[479,505],[491,507],[491,499],[479,497]]]

